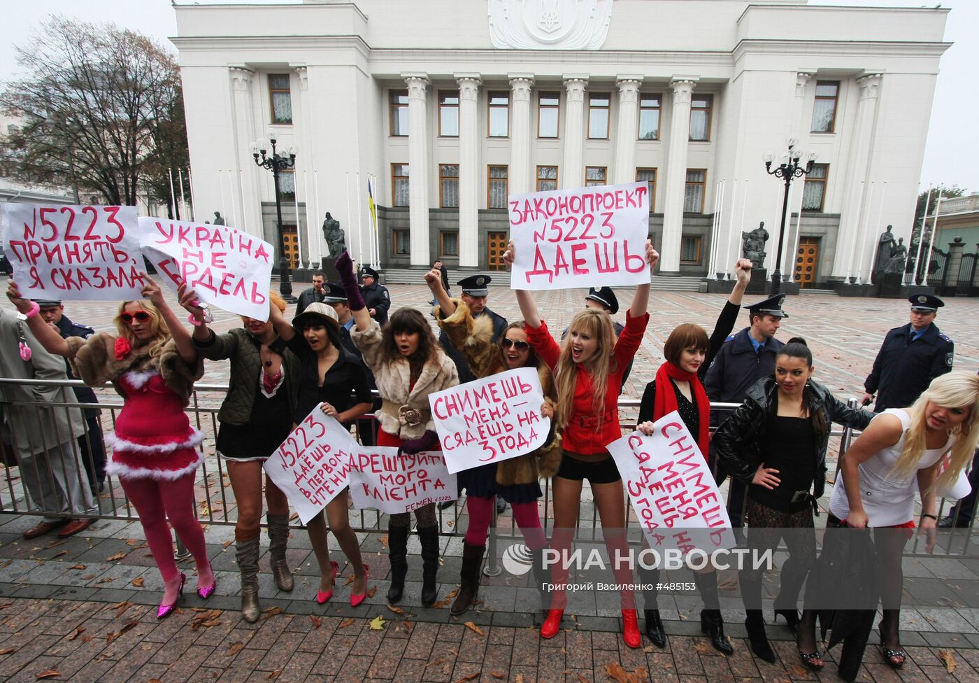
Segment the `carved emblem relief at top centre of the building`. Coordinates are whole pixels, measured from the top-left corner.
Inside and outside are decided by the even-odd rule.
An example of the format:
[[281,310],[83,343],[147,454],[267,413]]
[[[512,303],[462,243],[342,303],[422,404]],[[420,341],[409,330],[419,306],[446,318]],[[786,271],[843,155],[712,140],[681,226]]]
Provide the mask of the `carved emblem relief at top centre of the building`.
[[488,0],[496,48],[597,50],[612,21],[612,0]]

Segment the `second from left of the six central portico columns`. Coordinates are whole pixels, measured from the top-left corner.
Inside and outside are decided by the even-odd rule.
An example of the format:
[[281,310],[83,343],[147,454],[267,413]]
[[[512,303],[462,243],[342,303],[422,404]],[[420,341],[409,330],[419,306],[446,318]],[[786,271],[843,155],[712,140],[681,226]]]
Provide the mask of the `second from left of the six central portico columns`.
[[456,78],[459,83],[459,266],[478,268],[480,75],[456,74]]

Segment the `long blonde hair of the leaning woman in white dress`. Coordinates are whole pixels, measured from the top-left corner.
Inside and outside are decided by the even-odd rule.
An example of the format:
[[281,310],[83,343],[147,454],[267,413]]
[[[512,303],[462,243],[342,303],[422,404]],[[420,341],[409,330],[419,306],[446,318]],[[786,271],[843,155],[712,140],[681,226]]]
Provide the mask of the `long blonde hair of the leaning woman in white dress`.
[[901,456],[891,466],[889,475],[909,478],[917,470],[917,463],[925,452],[925,407],[933,403],[942,408],[960,408],[970,411],[968,419],[952,430],[956,441],[952,446],[952,463],[935,481],[934,487],[943,490],[956,482],[958,474],[972,460],[979,444],[979,376],[972,372],[948,372],[935,377],[924,393],[908,409],[910,427]]

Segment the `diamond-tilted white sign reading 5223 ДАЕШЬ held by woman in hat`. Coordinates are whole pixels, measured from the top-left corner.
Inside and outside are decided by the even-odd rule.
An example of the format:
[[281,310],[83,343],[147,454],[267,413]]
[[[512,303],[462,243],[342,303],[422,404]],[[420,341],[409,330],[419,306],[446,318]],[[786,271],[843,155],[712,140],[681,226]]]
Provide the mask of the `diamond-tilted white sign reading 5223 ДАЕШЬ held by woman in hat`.
[[305,524],[350,486],[357,448],[350,432],[317,404],[263,466]]

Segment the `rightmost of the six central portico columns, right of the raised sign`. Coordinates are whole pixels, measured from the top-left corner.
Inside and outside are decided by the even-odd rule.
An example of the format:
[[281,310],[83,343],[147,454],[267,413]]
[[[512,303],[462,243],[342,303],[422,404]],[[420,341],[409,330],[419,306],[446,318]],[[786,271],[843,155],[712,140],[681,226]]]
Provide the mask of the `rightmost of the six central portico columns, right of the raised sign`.
[[[660,274],[679,274],[679,243],[683,235],[683,197],[686,192],[686,152],[690,142],[690,96],[694,80],[676,78],[670,117],[670,149],[667,152],[666,190],[663,207],[663,240]],[[706,191],[706,187],[705,187]]]

